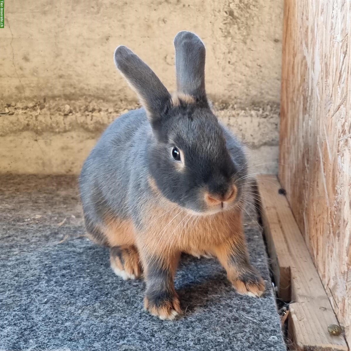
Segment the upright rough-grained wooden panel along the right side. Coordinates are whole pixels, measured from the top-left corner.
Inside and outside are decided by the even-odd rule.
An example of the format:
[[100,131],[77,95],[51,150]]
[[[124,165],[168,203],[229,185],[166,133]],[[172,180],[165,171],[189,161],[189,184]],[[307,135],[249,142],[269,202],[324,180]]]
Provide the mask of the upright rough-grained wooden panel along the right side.
[[351,346],[351,0],[285,0],[279,179]]

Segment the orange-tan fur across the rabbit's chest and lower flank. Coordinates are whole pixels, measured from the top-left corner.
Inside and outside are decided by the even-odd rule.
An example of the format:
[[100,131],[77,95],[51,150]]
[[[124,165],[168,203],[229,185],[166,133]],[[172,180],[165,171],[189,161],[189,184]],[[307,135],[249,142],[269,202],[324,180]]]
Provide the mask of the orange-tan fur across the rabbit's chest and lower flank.
[[174,251],[201,254],[212,253],[214,246],[242,237],[239,209],[207,216],[190,214],[162,196],[153,179],[149,182],[155,197],[141,204],[143,229],[136,232],[131,220],[106,218],[104,233],[110,246],[137,243],[140,248],[162,256]]

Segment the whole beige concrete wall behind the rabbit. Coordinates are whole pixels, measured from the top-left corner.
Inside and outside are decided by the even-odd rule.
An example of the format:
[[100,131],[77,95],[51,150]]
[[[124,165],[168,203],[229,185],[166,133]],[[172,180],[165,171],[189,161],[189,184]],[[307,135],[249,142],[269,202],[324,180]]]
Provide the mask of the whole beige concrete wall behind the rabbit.
[[0,171],[77,173],[135,95],[113,64],[124,44],[175,87],[173,38],[207,47],[219,115],[275,171],[283,0],[12,0],[0,30]]

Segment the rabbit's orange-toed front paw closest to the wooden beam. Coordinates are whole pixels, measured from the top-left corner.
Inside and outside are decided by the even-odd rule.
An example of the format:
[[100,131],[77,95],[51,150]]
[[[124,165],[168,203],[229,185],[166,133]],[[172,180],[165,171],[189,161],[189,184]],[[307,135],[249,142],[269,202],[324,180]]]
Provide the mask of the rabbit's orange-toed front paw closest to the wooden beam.
[[246,267],[231,283],[239,294],[260,297],[265,291],[264,280],[252,266]]

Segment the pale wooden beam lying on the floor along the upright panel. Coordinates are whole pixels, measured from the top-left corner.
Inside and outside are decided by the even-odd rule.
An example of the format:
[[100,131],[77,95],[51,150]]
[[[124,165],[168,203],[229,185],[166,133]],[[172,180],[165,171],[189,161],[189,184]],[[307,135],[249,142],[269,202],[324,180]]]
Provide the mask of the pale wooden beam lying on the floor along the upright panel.
[[278,297],[291,302],[289,331],[296,349],[348,350],[343,336],[331,336],[327,330],[338,322],[287,199],[278,193],[277,177],[259,176],[258,187]]

